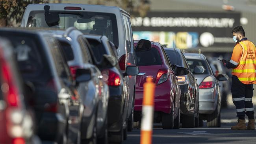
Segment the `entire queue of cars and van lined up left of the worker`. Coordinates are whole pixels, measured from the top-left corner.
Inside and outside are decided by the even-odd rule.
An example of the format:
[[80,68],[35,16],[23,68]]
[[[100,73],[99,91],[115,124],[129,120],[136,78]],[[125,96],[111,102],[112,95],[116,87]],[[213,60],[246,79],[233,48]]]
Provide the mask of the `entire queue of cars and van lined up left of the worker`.
[[21,27],[0,28],[1,144],[122,143],[141,121],[146,78],[164,129],[220,126],[227,76],[202,54],[134,41],[119,7],[31,4]]

